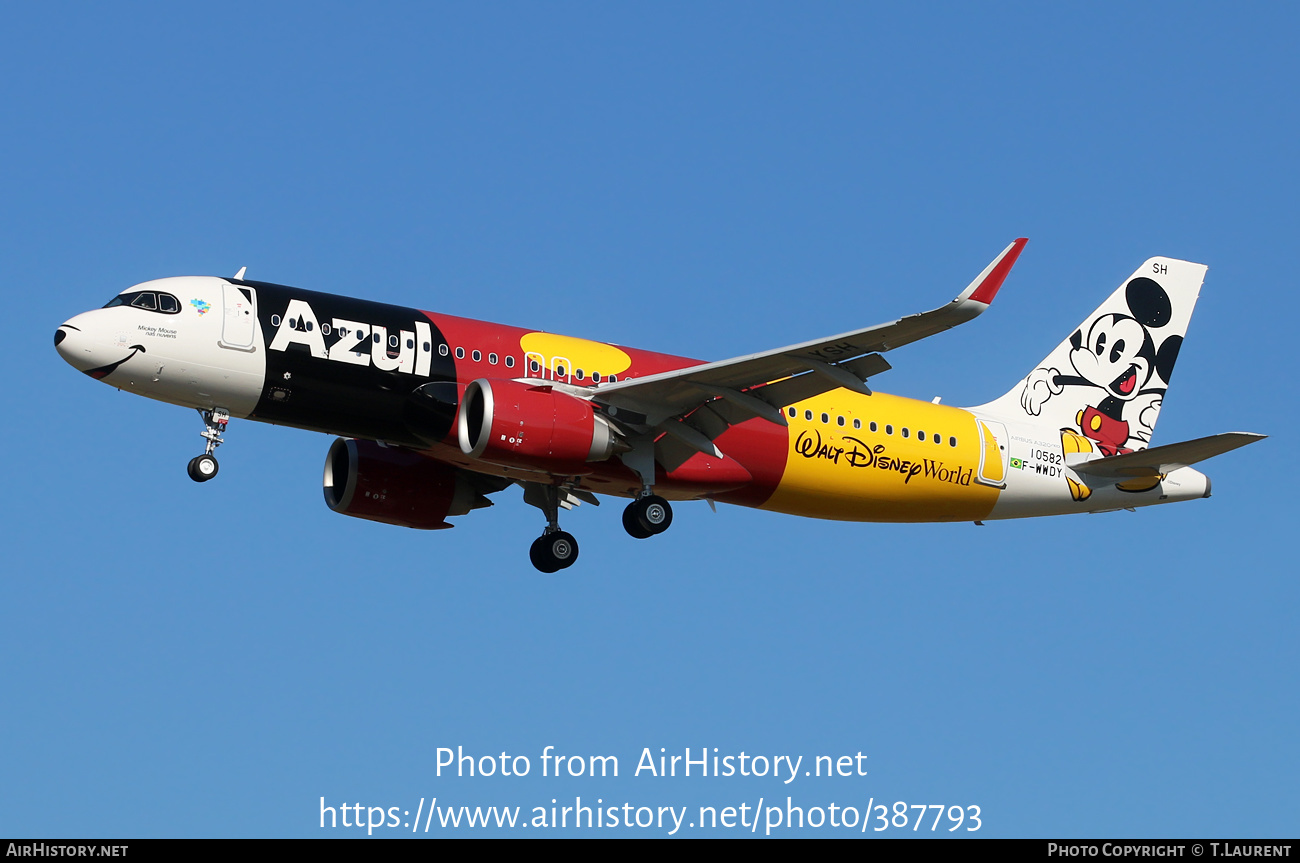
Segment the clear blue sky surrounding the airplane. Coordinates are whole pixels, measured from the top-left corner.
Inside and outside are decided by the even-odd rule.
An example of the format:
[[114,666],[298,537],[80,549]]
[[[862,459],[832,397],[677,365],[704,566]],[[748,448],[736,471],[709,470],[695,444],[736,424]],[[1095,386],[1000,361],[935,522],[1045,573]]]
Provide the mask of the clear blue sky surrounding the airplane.
[[[8,6],[0,834],[351,836],[321,797],[437,795],[1295,836],[1296,18]],[[646,542],[608,500],[540,576],[517,491],[448,532],[346,519],[330,438],[254,422],[199,486],[191,412],[51,343],[133,283],[248,266],[722,359],[931,308],[1020,235],[993,308],[874,385],[985,402],[1147,257],[1205,263],[1156,442],[1271,435],[1206,465],[1212,499],[984,528],[697,503]],[[456,746],[532,772],[438,777]],[[620,776],[542,777],[546,746]],[[645,747],[861,751],[868,775],[633,776]]]

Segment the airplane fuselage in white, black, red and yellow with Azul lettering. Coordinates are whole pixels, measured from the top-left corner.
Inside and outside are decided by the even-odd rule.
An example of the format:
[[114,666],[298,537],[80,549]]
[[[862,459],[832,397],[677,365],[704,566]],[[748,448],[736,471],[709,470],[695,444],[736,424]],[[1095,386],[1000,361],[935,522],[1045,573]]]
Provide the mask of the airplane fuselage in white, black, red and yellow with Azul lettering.
[[[465,387],[523,380],[580,398],[602,383],[699,360],[281,285],[178,277],[136,285],[58,328],[77,369],[173,404],[378,441],[508,480],[546,470],[481,460],[458,444]],[[658,468],[655,491],[850,521],[980,521],[1205,496],[1182,468],[1145,487],[1076,487],[1060,429],[875,393],[831,390],[751,419]],[[1078,437],[1078,435],[1074,435]],[[1084,442],[1086,446],[1086,442]],[[1072,476],[1072,474],[1071,474]],[[636,496],[619,456],[572,470],[575,487]],[[1072,483],[1072,485],[1071,485]]]

